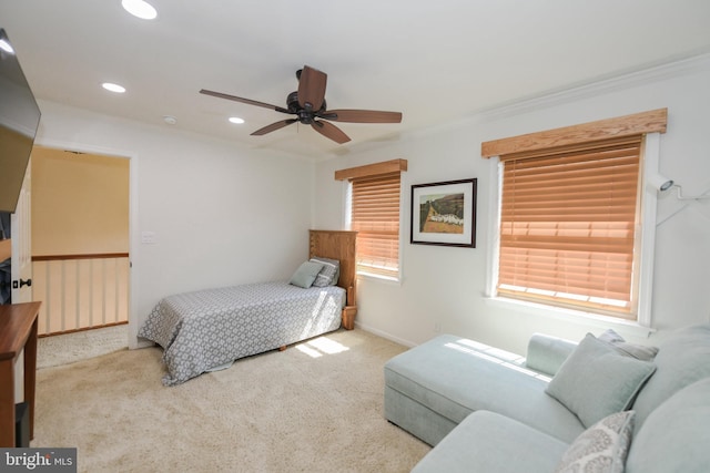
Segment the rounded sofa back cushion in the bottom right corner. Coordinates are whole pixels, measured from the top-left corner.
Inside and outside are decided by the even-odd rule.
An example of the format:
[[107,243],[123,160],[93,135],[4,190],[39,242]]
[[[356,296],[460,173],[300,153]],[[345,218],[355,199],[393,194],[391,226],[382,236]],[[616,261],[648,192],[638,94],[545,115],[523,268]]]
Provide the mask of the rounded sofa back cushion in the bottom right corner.
[[678,391],[649,414],[633,436],[626,471],[710,471],[710,378]]

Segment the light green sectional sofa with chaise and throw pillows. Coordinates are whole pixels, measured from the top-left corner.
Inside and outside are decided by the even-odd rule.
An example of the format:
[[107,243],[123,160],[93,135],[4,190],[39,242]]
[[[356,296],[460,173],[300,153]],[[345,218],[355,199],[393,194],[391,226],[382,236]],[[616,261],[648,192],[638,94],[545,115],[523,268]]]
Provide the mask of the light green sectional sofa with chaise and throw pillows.
[[385,418],[434,445],[417,473],[710,471],[710,325],[626,348],[536,335],[523,359],[439,336],[385,364]]

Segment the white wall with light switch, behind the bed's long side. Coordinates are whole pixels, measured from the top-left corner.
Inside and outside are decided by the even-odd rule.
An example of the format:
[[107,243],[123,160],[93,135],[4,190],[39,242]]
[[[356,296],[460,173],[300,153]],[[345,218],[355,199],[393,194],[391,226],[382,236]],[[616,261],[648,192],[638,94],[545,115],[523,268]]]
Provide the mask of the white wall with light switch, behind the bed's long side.
[[[164,296],[286,279],[307,258],[311,162],[57,103],[40,109],[38,144],[131,158],[133,336]],[[143,232],[156,243],[142,244]]]

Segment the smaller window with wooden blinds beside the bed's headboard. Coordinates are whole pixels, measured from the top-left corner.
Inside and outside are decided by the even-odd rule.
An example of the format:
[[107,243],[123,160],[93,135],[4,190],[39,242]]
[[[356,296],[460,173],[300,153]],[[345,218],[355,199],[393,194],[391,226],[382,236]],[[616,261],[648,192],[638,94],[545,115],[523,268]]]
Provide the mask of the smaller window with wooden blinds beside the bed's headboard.
[[357,232],[357,273],[399,278],[400,173],[405,160],[394,160],[335,173],[348,181],[351,230]]

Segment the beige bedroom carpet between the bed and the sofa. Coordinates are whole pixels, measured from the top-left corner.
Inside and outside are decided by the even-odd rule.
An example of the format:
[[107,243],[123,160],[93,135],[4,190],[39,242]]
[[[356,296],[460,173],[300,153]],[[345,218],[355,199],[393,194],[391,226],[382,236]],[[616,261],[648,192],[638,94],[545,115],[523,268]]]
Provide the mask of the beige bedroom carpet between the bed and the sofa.
[[78,448],[81,472],[407,472],[429,446],[383,418],[404,350],[341,330],[174,388],[158,348],[45,368],[31,445]]

